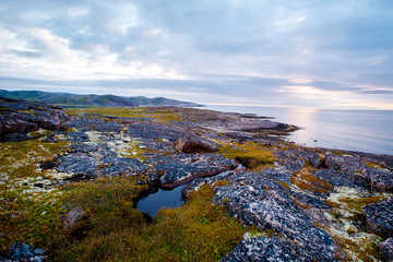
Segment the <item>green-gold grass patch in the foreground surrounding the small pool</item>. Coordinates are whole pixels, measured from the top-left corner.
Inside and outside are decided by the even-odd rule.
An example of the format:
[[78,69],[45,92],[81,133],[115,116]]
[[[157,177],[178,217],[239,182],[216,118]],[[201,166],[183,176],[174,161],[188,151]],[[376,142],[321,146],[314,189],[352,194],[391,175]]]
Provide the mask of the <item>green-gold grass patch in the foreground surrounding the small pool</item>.
[[[55,261],[218,261],[247,231],[225,207],[211,204],[210,186],[191,192],[183,206],[159,211],[148,224],[127,193],[135,193],[134,186],[126,190],[124,181],[112,182],[66,189],[76,192],[71,199],[87,209],[88,229],[82,241],[71,243]],[[108,199],[107,192],[115,188],[116,196]]]

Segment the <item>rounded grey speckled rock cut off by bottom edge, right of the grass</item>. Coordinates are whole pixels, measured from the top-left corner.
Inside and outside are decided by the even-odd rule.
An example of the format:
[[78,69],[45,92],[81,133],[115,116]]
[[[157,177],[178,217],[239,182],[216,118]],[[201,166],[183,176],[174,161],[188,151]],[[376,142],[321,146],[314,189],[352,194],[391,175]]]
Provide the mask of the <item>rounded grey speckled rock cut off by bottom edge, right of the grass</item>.
[[242,240],[221,261],[312,261],[307,250],[278,237],[259,237]]

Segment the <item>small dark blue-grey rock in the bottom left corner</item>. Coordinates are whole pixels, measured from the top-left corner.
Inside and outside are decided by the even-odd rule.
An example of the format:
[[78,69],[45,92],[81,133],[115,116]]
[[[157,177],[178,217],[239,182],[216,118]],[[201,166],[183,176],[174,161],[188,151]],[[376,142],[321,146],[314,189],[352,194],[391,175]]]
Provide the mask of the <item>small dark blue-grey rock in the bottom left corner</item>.
[[14,242],[12,248],[8,252],[8,255],[13,261],[34,261],[41,262],[46,260],[46,255],[44,255],[44,249],[34,249],[32,246],[23,242]]

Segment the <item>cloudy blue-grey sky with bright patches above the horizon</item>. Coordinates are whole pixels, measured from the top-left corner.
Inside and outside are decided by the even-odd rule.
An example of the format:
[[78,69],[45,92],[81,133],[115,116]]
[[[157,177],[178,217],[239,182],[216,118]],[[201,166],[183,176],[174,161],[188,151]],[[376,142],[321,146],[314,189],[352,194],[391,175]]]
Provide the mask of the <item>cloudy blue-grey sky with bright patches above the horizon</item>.
[[0,88],[393,109],[393,1],[0,0]]

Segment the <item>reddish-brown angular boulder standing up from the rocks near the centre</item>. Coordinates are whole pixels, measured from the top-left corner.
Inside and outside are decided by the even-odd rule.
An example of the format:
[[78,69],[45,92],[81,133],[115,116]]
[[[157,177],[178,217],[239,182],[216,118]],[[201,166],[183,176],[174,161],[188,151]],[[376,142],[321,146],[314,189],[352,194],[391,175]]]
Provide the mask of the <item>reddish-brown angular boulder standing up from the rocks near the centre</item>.
[[176,150],[182,153],[213,153],[218,151],[218,147],[207,140],[188,133],[178,140]]

